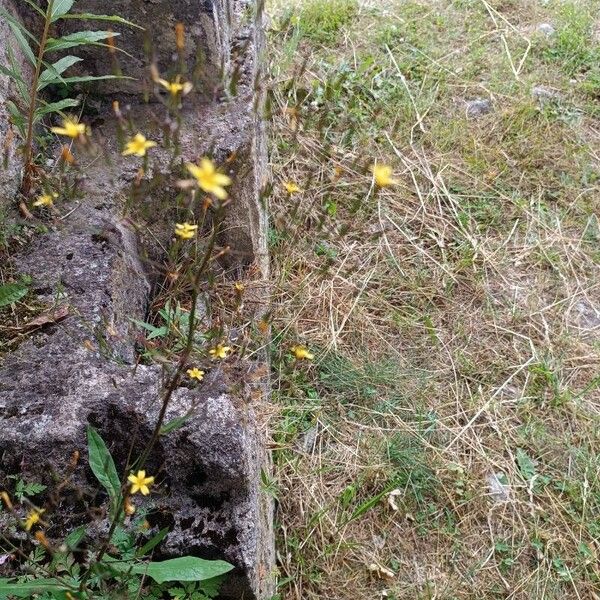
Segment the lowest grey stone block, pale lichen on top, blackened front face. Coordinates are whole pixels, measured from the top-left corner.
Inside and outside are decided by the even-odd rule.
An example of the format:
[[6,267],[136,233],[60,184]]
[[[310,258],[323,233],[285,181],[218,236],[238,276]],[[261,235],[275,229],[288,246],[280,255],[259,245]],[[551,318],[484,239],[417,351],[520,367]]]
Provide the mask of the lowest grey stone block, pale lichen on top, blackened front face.
[[[20,474],[52,489],[75,450],[85,460],[88,424],[107,440],[121,472],[129,452],[139,455],[151,434],[160,407],[159,370],[108,364],[83,347],[65,345],[65,331],[55,331],[41,347],[39,339],[28,343],[0,371],[0,481]],[[176,392],[167,418],[190,410],[193,416],[155,448],[147,470],[156,474],[158,489],[143,502],[153,506],[150,524],[170,529],[155,559],[191,554],[228,560],[236,569],[223,598],[268,598],[271,507],[258,485],[264,440],[248,399],[230,390],[217,369],[200,391]],[[72,484],[88,499],[98,488],[84,467]],[[95,531],[68,494],[45,518],[50,538],[82,523]]]

